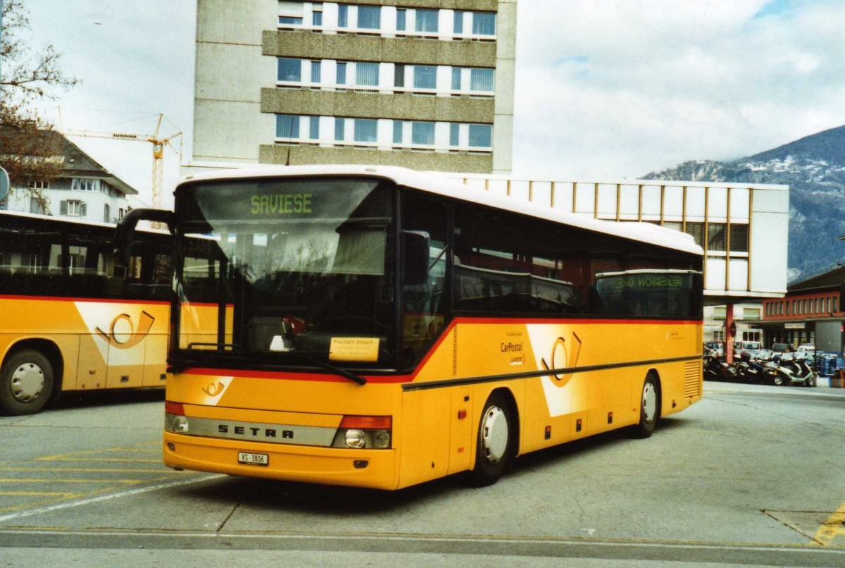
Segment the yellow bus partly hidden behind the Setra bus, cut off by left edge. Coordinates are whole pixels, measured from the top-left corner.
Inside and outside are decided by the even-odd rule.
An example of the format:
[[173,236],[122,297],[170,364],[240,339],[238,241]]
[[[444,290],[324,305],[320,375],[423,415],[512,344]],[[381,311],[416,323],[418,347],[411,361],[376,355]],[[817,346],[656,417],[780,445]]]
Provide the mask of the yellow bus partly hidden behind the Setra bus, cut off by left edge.
[[164,386],[172,238],[138,232],[121,281],[114,238],[107,223],[0,211],[0,412]]

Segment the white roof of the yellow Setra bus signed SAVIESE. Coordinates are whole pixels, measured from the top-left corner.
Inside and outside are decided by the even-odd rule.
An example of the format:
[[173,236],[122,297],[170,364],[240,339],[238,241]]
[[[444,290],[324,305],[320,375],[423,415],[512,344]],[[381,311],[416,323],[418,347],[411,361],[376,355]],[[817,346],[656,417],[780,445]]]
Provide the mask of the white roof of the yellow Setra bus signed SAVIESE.
[[201,172],[183,178],[182,183],[213,181],[241,178],[285,178],[300,176],[363,176],[393,180],[399,185],[417,188],[432,194],[449,196],[455,199],[489,205],[502,210],[514,211],[540,219],[548,219],[580,227],[588,231],[602,232],[643,243],[656,244],[667,249],[681,250],[692,254],[704,254],[695,239],[690,235],[660,227],[652,223],[601,221],[591,217],[554,210],[528,201],[501,198],[477,188],[470,188],[438,172],[417,172],[404,167],[394,166],[355,166],[355,165],[318,165],[318,166],[254,166],[238,169],[226,169],[213,172]]

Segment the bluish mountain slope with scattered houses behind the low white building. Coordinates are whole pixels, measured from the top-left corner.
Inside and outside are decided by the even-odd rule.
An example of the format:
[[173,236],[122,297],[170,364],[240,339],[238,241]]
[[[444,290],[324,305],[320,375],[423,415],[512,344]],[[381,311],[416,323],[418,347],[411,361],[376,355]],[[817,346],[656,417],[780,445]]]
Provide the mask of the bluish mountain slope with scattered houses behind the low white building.
[[645,179],[782,183],[789,186],[790,280],[845,258],[845,126],[735,161],[686,161]]

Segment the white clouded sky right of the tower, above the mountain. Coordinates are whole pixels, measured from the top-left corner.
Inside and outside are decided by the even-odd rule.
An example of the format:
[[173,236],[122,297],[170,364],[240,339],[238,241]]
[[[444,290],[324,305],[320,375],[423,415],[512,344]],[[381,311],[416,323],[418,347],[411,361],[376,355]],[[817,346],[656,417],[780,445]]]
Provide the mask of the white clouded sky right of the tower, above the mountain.
[[845,123],[845,5],[776,4],[520,3],[515,170],[635,177]]

